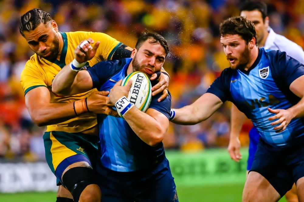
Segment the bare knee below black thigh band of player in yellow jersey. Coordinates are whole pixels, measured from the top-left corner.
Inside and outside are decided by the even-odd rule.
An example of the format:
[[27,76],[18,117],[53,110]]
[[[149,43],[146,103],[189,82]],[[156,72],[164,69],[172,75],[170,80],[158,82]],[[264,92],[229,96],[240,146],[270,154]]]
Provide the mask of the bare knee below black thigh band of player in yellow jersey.
[[98,185],[90,184],[82,191],[80,197],[80,202],[100,202],[101,201],[101,191]]

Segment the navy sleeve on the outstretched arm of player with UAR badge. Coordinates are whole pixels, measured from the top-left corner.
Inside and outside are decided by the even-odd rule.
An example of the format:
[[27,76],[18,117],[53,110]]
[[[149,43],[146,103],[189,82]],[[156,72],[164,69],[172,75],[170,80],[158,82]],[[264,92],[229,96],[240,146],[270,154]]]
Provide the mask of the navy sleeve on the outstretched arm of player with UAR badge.
[[219,97],[222,102],[231,101],[230,82],[233,70],[226,68],[221,75],[215,79],[206,93],[212,93]]

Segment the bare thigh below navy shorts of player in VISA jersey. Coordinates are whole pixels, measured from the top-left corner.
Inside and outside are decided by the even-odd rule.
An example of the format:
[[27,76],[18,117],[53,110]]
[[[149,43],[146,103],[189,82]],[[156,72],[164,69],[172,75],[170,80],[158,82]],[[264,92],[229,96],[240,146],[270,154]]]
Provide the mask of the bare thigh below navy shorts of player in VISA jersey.
[[276,202],[280,198],[280,194],[260,173],[251,171],[248,174],[242,202]]

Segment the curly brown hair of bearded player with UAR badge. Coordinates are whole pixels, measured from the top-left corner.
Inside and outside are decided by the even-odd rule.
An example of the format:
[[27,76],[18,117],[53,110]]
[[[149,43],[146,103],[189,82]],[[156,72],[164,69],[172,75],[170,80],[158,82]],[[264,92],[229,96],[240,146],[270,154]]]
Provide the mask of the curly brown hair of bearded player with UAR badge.
[[255,44],[257,44],[257,33],[255,31],[254,24],[244,17],[226,19],[219,25],[219,33],[221,36],[237,34],[241,36],[247,44],[251,41],[252,37],[254,37]]

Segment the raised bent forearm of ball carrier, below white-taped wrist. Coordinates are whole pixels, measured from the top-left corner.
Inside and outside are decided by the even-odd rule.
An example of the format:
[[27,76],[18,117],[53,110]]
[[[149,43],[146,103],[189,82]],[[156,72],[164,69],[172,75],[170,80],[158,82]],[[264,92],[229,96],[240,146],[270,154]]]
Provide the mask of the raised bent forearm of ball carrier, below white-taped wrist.
[[66,65],[55,76],[52,82],[52,91],[57,95],[67,95],[71,92],[71,87],[78,72],[73,71],[70,64]]

